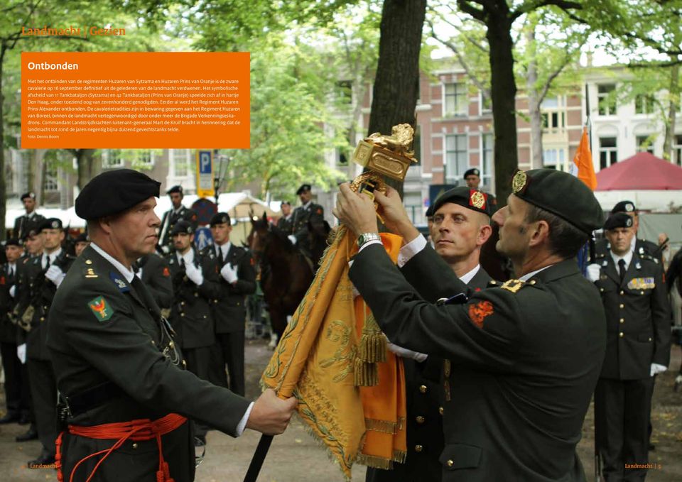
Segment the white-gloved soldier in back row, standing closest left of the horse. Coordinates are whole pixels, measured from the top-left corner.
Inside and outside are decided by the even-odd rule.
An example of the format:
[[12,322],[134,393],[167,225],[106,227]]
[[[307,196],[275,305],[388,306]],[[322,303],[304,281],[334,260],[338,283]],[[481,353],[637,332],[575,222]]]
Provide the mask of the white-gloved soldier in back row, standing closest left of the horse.
[[225,364],[229,373],[229,387],[234,393],[244,395],[244,332],[246,331],[246,297],[256,291],[256,270],[251,255],[244,248],[229,241],[232,231],[229,214],[219,212],[211,218],[213,246],[202,251],[209,256],[213,251],[220,273],[220,296],[213,300],[212,313],[217,339],[215,360],[211,376],[216,385],[225,385]]

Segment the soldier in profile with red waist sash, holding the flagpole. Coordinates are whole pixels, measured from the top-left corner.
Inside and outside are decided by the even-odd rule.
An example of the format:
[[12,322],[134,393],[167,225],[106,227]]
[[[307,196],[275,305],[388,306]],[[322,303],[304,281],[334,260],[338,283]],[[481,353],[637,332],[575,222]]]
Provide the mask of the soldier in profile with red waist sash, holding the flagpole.
[[159,185],[141,172],[111,170],[76,199],[92,243],[64,278],[48,322],[65,481],[93,473],[99,481],[193,481],[188,418],[233,437],[245,427],[278,434],[296,407],[271,390],[249,402],[185,370],[172,329],[131,270],[157,243]]

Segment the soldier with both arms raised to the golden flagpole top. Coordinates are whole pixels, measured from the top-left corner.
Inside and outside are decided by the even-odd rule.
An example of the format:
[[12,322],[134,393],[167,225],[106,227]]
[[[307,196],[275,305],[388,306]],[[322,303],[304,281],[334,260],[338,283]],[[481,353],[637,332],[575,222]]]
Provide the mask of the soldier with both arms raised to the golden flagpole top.
[[[391,231],[420,236],[395,190],[375,192]],[[498,251],[519,279],[467,297],[445,261],[428,273],[449,297],[433,304],[405,280],[377,233],[372,199],[340,186],[335,214],[360,234],[350,279],[386,336],[449,359],[443,479],[454,482],[585,481],[575,447],[605,353],[599,292],[573,259],[602,225],[602,210],[576,177],[549,169],[514,175],[494,214]],[[448,400],[449,396],[449,400]]]

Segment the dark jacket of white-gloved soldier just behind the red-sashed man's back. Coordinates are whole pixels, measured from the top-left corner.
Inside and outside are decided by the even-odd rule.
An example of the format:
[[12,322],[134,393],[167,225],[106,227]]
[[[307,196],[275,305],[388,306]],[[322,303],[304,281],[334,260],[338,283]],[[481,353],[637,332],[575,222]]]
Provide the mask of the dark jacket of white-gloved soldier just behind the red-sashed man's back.
[[[70,269],[74,257],[62,250],[55,258],[54,265],[58,266],[64,273]],[[17,303],[18,316],[24,314],[28,317],[30,310],[33,310],[31,317],[31,330],[26,333],[26,356],[36,360],[49,360],[49,352],[45,341],[47,339],[47,319],[48,312],[52,305],[57,286],[52,281],[45,278],[46,269],[43,268],[43,256],[26,258],[21,270],[19,280],[19,299]],[[27,312],[27,310],[29,310]]]

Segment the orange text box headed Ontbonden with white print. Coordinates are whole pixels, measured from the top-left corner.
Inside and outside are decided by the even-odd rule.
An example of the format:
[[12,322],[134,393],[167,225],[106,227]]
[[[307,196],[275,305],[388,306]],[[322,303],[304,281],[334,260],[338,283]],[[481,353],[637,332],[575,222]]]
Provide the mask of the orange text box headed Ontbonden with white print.
[[24,52],[22,148],[249,148],[249,53]]

